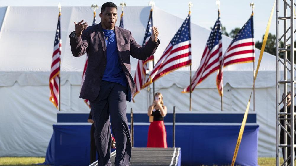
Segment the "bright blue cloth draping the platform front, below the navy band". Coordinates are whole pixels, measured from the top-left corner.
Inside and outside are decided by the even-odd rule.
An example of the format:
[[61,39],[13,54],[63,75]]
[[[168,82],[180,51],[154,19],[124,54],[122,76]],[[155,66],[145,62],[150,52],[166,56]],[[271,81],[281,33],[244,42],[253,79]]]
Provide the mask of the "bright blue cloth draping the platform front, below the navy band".
[[[149,125],[134,126],[135,147],[146,147],[148,128]],[[168,147],[172,147],[172,126],[166,125],[165,128]],[[239,125],[177,125],[176,147],[182,149],[181,164],[230,164],[239,129]],[[50,150],[55,152],[55,163],[59,165],[76,165],[77,163],[88,165],[89,131],[90,125],[54,125],[54,135],[51,139],[54,149]],[[238,165],[257,165],[258,131],[258,125],[245,127],[236,160]]]

